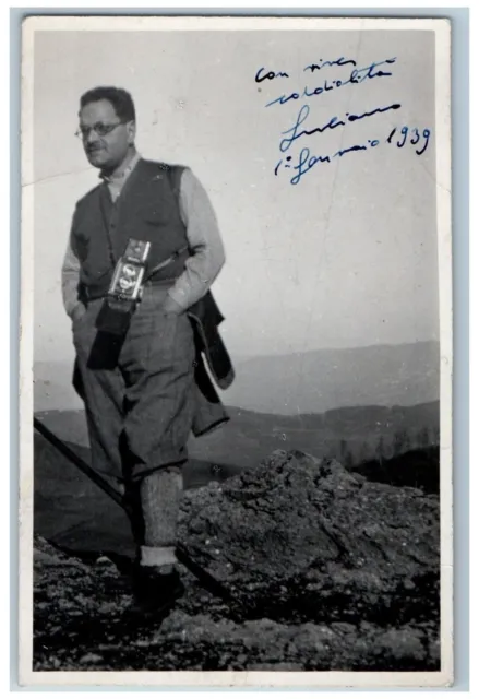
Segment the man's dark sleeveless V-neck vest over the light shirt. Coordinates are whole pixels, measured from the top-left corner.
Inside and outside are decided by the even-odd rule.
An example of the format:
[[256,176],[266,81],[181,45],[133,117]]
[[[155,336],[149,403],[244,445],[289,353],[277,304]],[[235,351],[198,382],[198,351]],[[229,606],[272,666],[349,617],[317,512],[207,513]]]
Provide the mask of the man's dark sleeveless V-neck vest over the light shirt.
[[[107,292],[115,265],[124,252],[129,238],[152,244],[146,275],[173,252],[188,248],[170,170],[163,163],[141,159],[116,203],[106,182],[77,202],[71,245],[81,263],[81,288],[88,296],[95,297]],[[188,254],[187,249],[153,279],[177,279],[184,269]]]

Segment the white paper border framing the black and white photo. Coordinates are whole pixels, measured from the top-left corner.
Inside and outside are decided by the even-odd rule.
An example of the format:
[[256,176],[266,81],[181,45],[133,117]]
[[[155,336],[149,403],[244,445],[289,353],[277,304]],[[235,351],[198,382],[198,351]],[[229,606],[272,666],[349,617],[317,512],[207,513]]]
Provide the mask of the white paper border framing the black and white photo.
[[33,39],[36,31],[433,31],[436,64],[436,196],[441,336],[441,655],[436,673],[33,672],[33,188],[22,196],[20,416],[20,682],[22,685],[161,687],[444,687],[453,682],[451,35],[446,20],[38,16],[23,24],[22,181],[33,181]]

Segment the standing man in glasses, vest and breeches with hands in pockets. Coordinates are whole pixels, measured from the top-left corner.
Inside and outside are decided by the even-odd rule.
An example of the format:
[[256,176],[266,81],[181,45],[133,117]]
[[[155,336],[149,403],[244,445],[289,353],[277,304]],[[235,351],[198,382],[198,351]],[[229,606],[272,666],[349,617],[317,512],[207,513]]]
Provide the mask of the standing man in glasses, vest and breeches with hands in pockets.
[[[165,611],[183,591],[176,543],[187,440],[192,429],[203,434],[228,419],[199,360],[199,337],[207,351],[223,317],[216,309],[202,325],[195,310],[204,299],[211,306],[208,289],[225,252],[192,171],[136,152],[129,93],[91,90],[81,97],[79,117],[79,135],[101,182],[76,204],[62,268],[75,386],[85,403],[92,465],[122,488],[132,511],[136,604]],[[99,318],[130,238],[151,248],[142,300],[118,335]]]

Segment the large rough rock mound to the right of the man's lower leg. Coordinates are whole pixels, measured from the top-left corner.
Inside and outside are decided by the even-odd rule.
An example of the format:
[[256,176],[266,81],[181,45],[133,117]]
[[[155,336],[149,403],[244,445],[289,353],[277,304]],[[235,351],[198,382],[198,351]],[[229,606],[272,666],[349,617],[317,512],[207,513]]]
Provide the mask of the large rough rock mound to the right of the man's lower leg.
[[187,494],[182,544],[240,618],[393,624],[439,612],[439,500],[274,452]]

